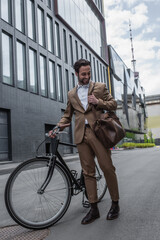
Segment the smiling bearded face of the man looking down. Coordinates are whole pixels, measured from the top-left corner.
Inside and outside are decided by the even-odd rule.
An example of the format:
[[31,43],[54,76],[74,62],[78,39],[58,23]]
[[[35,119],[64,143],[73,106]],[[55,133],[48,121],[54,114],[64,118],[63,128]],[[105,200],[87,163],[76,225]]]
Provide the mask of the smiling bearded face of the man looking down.
[[89,65],[81,66],[79,73],[76,72],[76,76],[78,77],[78,83],[80,85],[87,85],[91,78],[91,67]]

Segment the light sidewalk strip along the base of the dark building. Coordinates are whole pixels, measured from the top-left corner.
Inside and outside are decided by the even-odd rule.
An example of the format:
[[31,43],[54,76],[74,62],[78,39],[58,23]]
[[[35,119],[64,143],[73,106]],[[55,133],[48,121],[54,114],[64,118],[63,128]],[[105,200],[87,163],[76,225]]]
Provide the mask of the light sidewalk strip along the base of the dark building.
[[[63,159],[66,162],[76,161],[79,160],[78,153],[65,155]],[[4,161],[0,162],[0,175],[9,174],[11,173],[21,162],[12,162],[12,161]]]

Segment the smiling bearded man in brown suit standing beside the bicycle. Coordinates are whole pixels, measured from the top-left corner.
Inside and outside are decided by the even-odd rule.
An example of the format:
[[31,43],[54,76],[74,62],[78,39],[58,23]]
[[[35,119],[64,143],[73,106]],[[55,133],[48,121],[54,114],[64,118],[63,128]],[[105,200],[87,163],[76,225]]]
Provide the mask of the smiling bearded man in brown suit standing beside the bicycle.
[[89,61],[84,59],[78,60],[74,64],[74,69],[78,78],[78,85],[68,92],[67,108],[58,126],[70,123],[72,115],[75,113],[75,143],[78,148],[88,200],[91,205],[90,211],[82,219],[81,223],[89,224],[100,217],[97,207],[95,156],[104,173],[112,199],[107,220],[113,220],[119,215],[117,177],[115,167],[112,164],[111,151],[102,145],[92,131],[93,123],[96,120],[92,107],[95,107],[98,118],[103,110],[115,110],[117,104],[107,91],[104,83],[97,82],[94,85],[90,80],[91,66]]

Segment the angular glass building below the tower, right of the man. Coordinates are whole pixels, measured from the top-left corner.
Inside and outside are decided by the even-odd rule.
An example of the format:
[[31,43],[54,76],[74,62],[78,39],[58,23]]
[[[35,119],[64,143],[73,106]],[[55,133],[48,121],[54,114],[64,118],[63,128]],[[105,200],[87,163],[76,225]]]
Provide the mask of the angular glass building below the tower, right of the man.
[[117,100],[117,116],[127,132],[136,134],[136,139],[143,139],[146,132],[145,92],[139,75],[128,69],[116,51],[109,46],[111,89]]

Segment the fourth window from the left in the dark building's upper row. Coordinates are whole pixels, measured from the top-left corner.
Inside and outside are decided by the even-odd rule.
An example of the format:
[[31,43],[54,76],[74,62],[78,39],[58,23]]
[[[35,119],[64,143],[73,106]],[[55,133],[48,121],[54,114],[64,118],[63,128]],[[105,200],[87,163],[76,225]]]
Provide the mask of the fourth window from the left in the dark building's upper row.
[[40,8],[38,8],[38,37],[39,44],[45,47],[44,12]]

